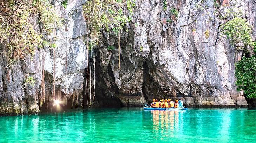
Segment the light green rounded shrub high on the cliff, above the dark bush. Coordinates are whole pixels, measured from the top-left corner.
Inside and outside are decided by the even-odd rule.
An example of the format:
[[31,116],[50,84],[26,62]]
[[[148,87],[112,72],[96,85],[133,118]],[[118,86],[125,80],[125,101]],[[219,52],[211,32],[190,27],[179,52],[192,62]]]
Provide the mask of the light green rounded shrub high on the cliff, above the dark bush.
[[235,17],[222,24],[221,33],[231,39],[233,44],[243,43],[245,46],[253,44],[251,25],[243,18]]

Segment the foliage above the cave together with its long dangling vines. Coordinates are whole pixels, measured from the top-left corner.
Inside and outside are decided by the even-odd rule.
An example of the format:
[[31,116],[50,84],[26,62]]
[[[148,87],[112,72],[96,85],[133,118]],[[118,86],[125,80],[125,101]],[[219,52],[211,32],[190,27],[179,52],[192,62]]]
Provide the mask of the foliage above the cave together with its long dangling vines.
[[[83,14],[87,21],[89,31],[87,34],[87,50],[90,54],[93,54],[93,93],[92,93],[92,62],[90,62],[90,76],[87,68],[86,74],[86,93],[87,93],[87,105],[90,98],[89,107],[94,101],[95,90],[95,61],[97,47],[102,38],[102,30],[107,32],[114,32],[118,36],[119,46],[119,64],[120,69],[120,31],[124,29],[132,20],[133,8],[135,7],[135,0],[90,0],[87,1],[83,7]],[[128,29],[126,29],[128,32]],[[92,53],[94,50],[94,53]],[[88,53],[88,52],[87,52]],[[92,61],[90,60],[90,61]],[[90,81],[89,81],[90,80]],[[90,89],[88,89],[90,88]],[[89,91],[88,91],[89,90]],[[93,97],[92,97],[93,96]],[[93,100],[92,100],[93,99]]]

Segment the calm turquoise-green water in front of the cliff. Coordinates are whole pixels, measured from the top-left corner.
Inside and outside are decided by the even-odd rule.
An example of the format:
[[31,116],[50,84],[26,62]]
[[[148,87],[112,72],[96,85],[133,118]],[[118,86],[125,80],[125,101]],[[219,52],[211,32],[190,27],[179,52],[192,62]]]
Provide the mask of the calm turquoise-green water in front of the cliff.
[[0,117],[0,142],[255,142],[256,111],[90,109]]

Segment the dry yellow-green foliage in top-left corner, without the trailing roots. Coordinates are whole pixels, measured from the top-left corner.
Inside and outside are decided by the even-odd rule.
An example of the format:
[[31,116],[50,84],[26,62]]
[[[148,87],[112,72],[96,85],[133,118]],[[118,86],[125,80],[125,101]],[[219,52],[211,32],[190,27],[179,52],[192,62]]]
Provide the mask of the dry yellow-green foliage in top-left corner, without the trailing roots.
[[42,47],[42,35],[35,30],[32,17],[43,23],[46,33],[59,20],[45,0],[5,0],[0,9],[4,9],[0,10],[0,43],[7,47],[11,60],[33,55],[37,47]]

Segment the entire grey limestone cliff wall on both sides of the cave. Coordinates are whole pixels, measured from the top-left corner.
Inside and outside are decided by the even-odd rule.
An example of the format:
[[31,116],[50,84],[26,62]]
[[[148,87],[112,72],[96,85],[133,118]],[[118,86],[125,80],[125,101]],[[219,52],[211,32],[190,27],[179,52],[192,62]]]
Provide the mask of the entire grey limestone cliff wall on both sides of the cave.
[[[181,98],[186,106],[199,107],[247,105],[235,85],[235,63],[242,51],[222,37],[218,28],[226,21],[219,17],[239,8],[253,25],[255,39],[255,1],[217,0],[216,6],[213,0],[167,0],[164,10],[160,0],[136,0],[132,23],[126,25],[129,32],[120,34],[120,69],[117,36],[103,32],[101,45],[88,51],[85,41],[90,30],[82,14],[86,0],[68,0],[66,9],[62,1],[52,1],[52,5],[64,24],[45,36],[56,44],[55,49],[44,47],[32,61],[28,56],[14,65],[1,54],[0,115],[38,113],[42,81],[43,107],[53,103],[54,82],[55,99],[68,97],[68,104],[76,100],[81,105],[94,92],[94,106],[142,106],[152,98]],[[109,45],[116,48],[108,51]],[[7,52],[4,45],[0,47]],[[28,73],[36,84],[22,89]]]

